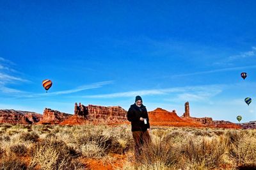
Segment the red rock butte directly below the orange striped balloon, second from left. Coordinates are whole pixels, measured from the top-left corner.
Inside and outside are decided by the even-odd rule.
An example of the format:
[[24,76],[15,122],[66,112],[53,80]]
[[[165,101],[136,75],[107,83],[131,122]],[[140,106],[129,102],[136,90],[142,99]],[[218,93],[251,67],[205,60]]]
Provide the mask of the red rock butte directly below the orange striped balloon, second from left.
[[67,114],[65,112],[59,112],[45,108],[43,119],[39,121],[38,124],[58,124],[64,120],[67,120],[71,116],[72,114]]

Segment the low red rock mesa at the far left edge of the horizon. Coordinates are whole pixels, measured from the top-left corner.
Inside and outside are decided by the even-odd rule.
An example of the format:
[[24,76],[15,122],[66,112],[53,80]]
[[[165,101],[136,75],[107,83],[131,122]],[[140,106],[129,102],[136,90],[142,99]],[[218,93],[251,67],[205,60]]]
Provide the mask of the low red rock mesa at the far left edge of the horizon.
[[13,109],[0,110],[0,123],[34,124],[42,119],[42,114]]

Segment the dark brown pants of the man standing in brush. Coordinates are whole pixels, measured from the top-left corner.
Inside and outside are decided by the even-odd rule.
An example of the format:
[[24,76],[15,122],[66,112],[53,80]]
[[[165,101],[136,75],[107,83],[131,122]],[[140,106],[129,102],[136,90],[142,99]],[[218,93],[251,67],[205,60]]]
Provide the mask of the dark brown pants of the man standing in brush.
[[151,143],[150,135],[148,131],[134,131],[132,132],[132,137],[134,139],[134,151],[135,159],[140,159],[141,150],[143,146],[148,146]]

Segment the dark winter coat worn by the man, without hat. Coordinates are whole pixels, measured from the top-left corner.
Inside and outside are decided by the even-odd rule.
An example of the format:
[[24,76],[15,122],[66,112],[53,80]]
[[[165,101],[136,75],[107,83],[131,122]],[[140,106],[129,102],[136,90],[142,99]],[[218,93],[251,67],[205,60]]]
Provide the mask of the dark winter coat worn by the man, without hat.
[[[147,118],[147,124],[141,121],[140,118]],[[144,105],[138,107],[136,104],[131,105],[129,111],[127,112],[127,119],[131,121],[132,132],[134,131],[145,131],[150,128],[148,120],[148,112]]]

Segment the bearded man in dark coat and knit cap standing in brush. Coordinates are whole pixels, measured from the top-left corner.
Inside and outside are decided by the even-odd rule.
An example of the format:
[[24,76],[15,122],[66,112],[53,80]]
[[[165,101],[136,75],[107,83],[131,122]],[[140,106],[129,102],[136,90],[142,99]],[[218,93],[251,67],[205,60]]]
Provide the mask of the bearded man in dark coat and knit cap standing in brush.
[[145,105],[142,104],[140,96],[136,96],[135,103],[129,108],[127,119],[131,121],[135,158],[138,160],[142,147],[151,142],[150,135],[148,134],[150,130],[148,112]]

